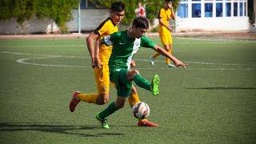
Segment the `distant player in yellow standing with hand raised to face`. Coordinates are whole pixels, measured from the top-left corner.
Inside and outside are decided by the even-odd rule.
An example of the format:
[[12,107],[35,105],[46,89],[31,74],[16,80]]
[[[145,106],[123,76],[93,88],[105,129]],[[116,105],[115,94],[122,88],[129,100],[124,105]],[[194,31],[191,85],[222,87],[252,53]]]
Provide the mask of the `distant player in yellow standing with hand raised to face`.
[[[167,52],[172,54],[173,49],[173,40],[171,37],[172,28],[169,25],[170,19],[175,19],[174,9],[170,0],[165,1],[165,6],[158,13],[159,19],[159,37],[162,41],[162,44]],[[156,53],[150,57],[151,65],[154,65],[154,60],[160,54]],[[176,67],[170,63],[170,58],[166,58],[167,67]]]

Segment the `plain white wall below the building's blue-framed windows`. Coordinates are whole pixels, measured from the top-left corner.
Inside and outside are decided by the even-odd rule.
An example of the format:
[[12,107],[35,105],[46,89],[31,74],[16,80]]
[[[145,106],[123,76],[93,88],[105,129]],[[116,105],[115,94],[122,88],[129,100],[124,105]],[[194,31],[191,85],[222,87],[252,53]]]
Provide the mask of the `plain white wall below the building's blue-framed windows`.
[[176,32],[190,31],[247,31],[248,17],[176,18]]

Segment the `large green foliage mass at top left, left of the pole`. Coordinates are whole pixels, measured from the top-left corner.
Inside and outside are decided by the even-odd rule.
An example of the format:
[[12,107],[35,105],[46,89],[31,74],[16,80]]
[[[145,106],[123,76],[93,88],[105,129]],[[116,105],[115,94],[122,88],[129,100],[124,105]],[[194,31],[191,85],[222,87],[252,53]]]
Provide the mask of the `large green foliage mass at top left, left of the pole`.
[[66,22],[77,7],[78,0],[0,0],[0,19],[17,18],[22,26],[30,18],[52,18],[62,33],[67,33]]

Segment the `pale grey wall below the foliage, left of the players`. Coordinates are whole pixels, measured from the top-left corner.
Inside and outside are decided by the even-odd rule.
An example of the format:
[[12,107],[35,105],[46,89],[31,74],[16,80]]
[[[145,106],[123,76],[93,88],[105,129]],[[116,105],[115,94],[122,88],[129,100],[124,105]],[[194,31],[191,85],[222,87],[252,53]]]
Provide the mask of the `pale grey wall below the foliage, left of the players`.
[[[78,10],[72,11],[73,19],[67,22],[70,31],[78,31]],[[94,30],[109,17],[106,9],[81,10],[81,30]],[[23,26],[23,27],[22,27]],[[0,34],[58,33],[59,29],[50,18],[31,18],[20,26],[15,18],[0,20]]]

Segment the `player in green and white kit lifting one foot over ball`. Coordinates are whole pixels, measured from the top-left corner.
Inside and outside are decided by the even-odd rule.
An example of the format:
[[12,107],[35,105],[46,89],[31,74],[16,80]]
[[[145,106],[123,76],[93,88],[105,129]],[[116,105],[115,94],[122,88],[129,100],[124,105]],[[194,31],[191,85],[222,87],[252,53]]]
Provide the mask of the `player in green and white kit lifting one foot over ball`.
[[[134,19],[130,30],[116,32],[96,42],[97,44],[94,50],[98,50],[101,44],[113,46],[109,62],[110,81],[114,82],[118,94],[115,102],[110,103],[105,110],[96,115],[98,121],[101,122],[102,128],[109,128],[106,117],[125,105],[126,98],[130,96],[132,81],[134,81],[137,86],[149,90],[152,94],[158,94],[160,79],[157,74],[155,74],[152,81],[149,82],[139,74],[138,70],[130,70],[131,59],[140,47],[148,47],[166,58],[170,58],[175,66],[183,66],[185,68],[187,66],[187,64],[179,61],[178,58],[175,58],[162,47],[155,45],[154,42],[147,38],[144,34],[148,29],[149,22],[147,19],[138,17]],[[92,63],[95,69],[100,68],[100,62],[97,57],[98,56],[95,56]]]

